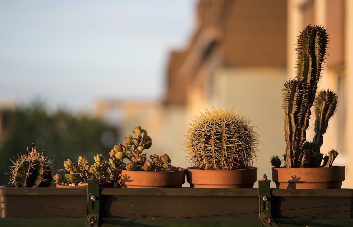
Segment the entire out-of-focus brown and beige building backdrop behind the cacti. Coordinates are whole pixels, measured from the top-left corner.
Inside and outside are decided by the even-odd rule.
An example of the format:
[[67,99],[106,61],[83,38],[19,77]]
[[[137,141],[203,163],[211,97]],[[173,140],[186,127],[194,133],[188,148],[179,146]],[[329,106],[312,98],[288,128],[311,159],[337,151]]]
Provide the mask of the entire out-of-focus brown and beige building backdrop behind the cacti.
[[[339,96],[337,113],[324,135],[322,152],[339,150],[336,165],[353,175],[353,1],[199,0],[196,26],[185,48],[173,50],[167,65],[163,103],[100,102],[98,115],[116,112],[123,134],[134,124],[149,131],[151,153],[168,153],[174,166],[189,166],[183,153],[188,122],[212,105],[231,106],[252,120],[260,135],[254,163],[258,179],[271,176],[270,156],[285,150],[282,88],[295,77],[297,36],[306,25],[323,25],[330,34],[329,56],[319,89]],[[118,104],[117,104],[118,103]],[[313,130],[313,126],[311,127]],[[313,133],[307,133],[307,138]],[[152,149],[152,148],[151,148]],[[274,186],[274,185],[271,185]],[[343,187],[353,187],[346,180]]]

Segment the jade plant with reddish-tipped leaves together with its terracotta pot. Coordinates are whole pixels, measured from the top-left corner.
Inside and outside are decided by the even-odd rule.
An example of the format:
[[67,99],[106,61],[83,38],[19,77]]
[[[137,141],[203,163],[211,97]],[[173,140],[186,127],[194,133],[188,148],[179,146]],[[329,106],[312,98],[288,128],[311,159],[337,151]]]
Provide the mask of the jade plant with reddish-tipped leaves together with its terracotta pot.
[[[147,160],[143,150],[149,149],[152,139],[147,131],[136,126],[123,144],[117,144],[110,151],[112,159],[120,167],[116,181],[120,187],[181,187],[185,182],[185,169],[173,167],[167,154],[150,156]],[[124,160],[127,160],[124,163]]]

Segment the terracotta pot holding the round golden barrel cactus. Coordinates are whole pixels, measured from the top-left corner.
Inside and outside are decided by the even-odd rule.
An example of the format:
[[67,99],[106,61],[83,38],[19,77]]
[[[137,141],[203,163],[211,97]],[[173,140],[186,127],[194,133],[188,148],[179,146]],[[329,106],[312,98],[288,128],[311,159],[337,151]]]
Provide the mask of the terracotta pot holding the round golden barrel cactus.
[[196,188],[252,188],[257,180],[257,167],[234,170],[186,168],[186,180]]

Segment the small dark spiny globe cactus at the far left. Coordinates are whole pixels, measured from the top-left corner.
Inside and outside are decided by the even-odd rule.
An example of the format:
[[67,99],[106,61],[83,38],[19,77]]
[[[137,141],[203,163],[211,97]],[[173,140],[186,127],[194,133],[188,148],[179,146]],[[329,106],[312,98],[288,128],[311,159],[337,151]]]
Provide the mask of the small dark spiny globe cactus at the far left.
[[27,155],[20,155],[12,161],[11,181],[16,187],[49,187],[52,184],[53,161],[37,152],[32,143],[32,150]]

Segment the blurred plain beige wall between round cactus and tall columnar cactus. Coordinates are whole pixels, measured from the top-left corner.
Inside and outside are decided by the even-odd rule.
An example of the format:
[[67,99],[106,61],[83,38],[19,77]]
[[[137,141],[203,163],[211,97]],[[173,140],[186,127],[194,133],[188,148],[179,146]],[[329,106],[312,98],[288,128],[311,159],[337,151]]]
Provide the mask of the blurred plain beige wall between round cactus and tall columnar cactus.
[[[285,79],[285,68],[275,67],[221,68],[214,76],[211,103],[215,107],[232,106],[249,117],[257,128],[261,141],[260,153],[254,162],[258,179],[263,174],[271,179],[272,155],[279,155],[283,160],[286,145],[281,98]],[[271,183],[271,187],[275,185]]]

